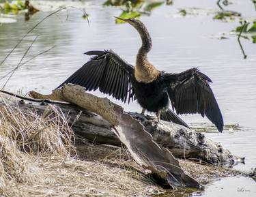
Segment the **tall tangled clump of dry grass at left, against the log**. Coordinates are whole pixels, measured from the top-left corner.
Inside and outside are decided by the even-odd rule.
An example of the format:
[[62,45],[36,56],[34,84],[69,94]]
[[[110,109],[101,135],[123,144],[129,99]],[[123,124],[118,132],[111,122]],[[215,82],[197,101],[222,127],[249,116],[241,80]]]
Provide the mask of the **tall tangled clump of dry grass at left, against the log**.
[[1,136],[14,141],[20,150],[38,155],[70,155],[74,152],[74,133],[66,117],[49,105],[42,115],[32,110],[0,106]]

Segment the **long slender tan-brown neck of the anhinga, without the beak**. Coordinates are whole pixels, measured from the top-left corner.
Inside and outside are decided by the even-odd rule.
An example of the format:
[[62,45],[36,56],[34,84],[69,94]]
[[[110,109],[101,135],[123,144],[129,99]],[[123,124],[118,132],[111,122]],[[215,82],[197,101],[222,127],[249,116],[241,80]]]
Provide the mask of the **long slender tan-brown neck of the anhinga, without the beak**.
[[135,27],[141,35],[142,45],[137,54],[135,66],[135,78],[139,82],[152,82],[158,76],[158,70],[147,60],[147,53],[152,48],[152,40],[145,25]]

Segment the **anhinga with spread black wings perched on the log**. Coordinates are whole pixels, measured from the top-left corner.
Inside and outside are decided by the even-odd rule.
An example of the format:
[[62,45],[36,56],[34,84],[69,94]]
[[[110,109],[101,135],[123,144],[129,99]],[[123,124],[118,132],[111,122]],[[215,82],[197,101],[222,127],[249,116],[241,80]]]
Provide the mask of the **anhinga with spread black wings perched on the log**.
[[[208,117],[218,131],[222,132],[223,117],[209,85],[212,80],[197,68],[179,74],[157,70],[147,60],[152,40],[145,25],[134,18],[116,18],[128,22],[141,35],[142,45],[137,54],[135,67],[112,50],[85,52],[86,55],[94,57],[59,87],[70,82],[85,87],[87,91],[99,89],[102,93],[108,93],[122,102],[137,99],[143,108],[142,113],[145,110],[156,112],[158,119],[186,127],[188,125],[177,115],[199,113],[202,117]],[[177,115],[173,110],[169,110],[169,100]]]

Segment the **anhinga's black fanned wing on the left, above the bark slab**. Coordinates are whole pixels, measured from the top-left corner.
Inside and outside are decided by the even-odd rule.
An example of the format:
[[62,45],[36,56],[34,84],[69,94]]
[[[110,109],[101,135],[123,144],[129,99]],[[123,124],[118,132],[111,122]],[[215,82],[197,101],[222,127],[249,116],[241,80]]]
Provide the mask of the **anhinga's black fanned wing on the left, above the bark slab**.
[[126,63],[112,50],[94,50],[85,54],[94,57],[59,87],[72,83],[85,87],[87,91],[99,89],[102,93],[108,93],[122,102],[126,102],[127,99],[130,102],[130,99],[134,99],[131,84],[133,65]]

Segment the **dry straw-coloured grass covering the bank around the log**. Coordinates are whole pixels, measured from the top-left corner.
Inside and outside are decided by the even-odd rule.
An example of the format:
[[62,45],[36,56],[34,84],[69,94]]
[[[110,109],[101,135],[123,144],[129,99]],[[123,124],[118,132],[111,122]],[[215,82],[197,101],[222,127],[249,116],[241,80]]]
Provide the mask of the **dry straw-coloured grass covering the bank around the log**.
[[[0,103],[0,196],[152,196],[165,192],[125,148],[74,147],[60,110],[37,115]],[[201,183],[235,172],[181,161]],[[237,175],[237,174],[236,174]]]

